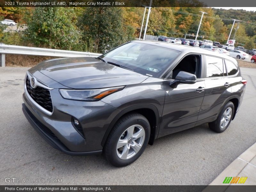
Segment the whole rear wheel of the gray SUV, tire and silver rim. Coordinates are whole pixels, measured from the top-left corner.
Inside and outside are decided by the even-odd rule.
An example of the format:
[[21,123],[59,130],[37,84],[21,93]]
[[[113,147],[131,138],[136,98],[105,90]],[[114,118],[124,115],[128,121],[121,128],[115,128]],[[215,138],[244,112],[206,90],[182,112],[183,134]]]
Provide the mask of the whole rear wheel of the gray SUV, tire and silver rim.
[[209,123],[210,129],[212,129],[212,131],[215,131],[217,133],[224,132],[228,128],[233,118],[234,110],[235,110],[234,104],[231,101],[229,101],[222,108],[218,118],[215,121]]

